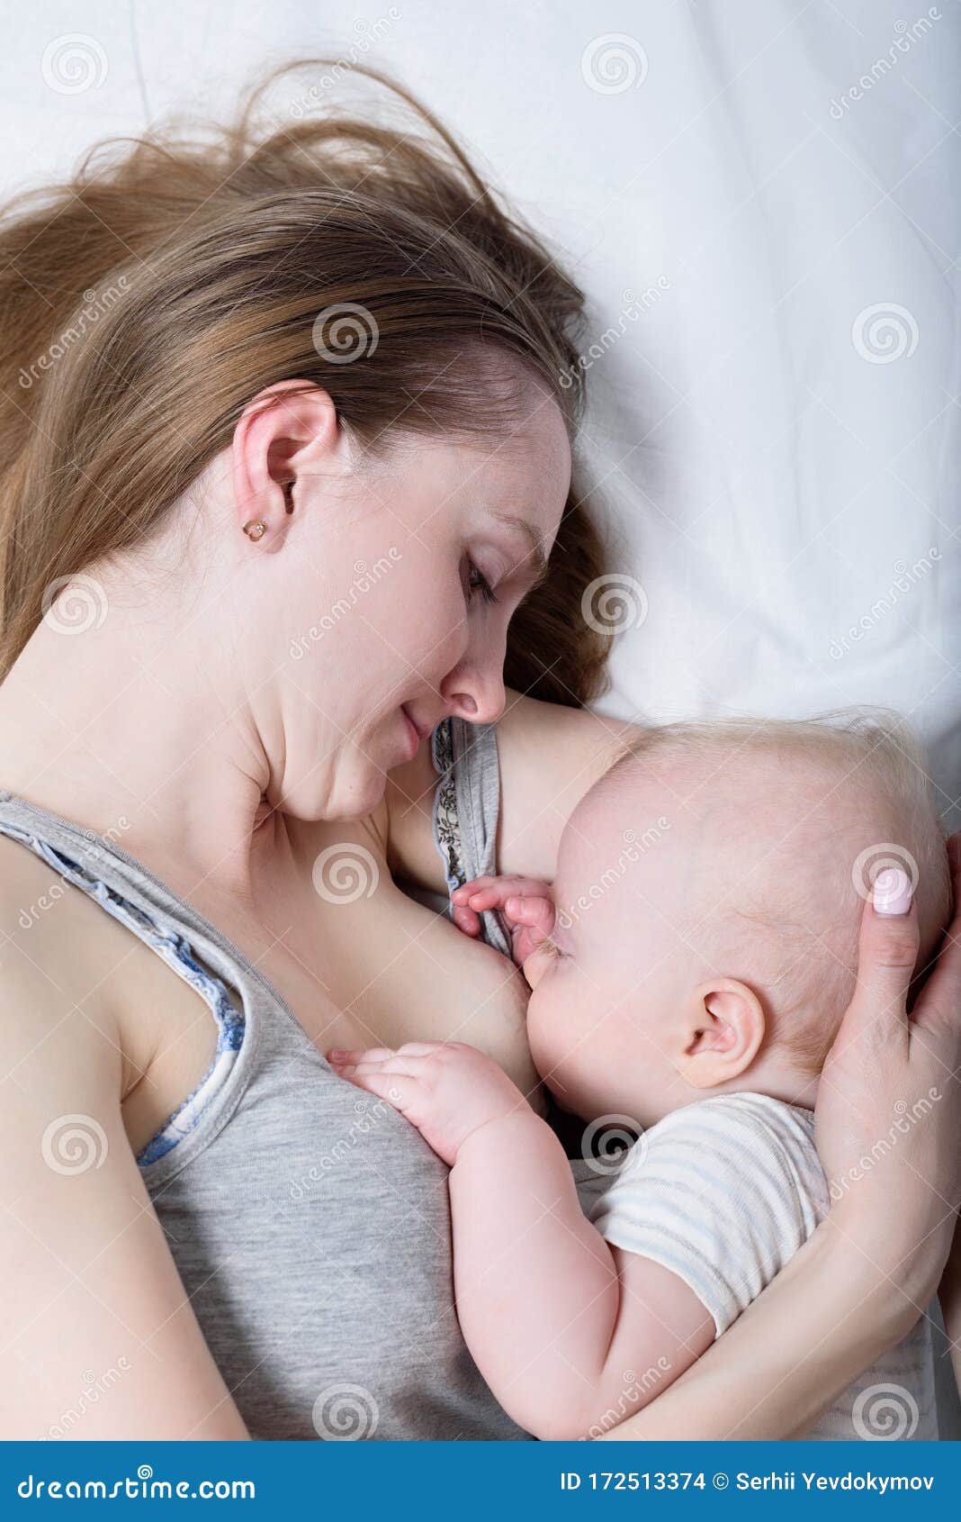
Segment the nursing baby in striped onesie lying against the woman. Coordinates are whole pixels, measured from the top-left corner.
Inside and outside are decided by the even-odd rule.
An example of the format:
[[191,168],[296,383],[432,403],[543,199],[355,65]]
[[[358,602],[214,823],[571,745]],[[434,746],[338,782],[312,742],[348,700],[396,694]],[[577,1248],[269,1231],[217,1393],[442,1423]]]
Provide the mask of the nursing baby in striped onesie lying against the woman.
[[[871,893],[888,913],[914,893],[923,971],[950,887],[903,728],[657,728],[573,811],[553,887],[491,877],[453,893],[468,931],[485,910],[506,922],[560,1105],[593,1122],[588,1138],[639,1135],[614,1167],[579,1164],[579,1198],[555,1132],[473,1047],[330,1053],[450,1166],[464,1338],[535,1437],[596,1437],[660,1394],[847,1187],[829,1189],[812,1106]],[[937,1437],[932,1367],[921,1317],[806,1435],[894,1422]]]

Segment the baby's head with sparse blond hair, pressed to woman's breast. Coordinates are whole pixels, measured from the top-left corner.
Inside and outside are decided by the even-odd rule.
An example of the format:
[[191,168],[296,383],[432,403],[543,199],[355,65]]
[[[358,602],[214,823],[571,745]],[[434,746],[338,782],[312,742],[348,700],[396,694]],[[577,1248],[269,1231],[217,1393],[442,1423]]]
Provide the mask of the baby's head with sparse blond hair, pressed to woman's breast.
[[864,901],[902,866],[917,976],[950,912],[925,756],[891,715],[648,731],[572,814],[557,928],[525,963],[538,1071],[584,1119],[712,1093],[810,1105]]

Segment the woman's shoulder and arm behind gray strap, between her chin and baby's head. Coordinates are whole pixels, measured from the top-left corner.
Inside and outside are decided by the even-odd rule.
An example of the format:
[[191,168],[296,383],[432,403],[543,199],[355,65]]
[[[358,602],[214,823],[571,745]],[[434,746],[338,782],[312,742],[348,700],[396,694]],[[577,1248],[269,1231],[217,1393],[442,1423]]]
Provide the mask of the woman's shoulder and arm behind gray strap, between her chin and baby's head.
[[[553,878],[567,819],[636,729],[636,724],[584,708],[561,708],[508,693],[497,724],[499,872]],[[391,871],[423,887],[444,892],[444,869],[430,826],[435,784],[427,743],[414,761],[391,772],[386,788],[389,864]]]

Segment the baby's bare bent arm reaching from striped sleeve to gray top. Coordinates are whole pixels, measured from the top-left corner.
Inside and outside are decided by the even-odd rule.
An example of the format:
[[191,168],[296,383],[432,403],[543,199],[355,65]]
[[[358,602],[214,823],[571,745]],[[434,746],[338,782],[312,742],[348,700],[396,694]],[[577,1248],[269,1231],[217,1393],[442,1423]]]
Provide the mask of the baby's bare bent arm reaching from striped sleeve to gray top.
[[461,1329],[520,1426],[540,1438],[608,1431],[710,1345],[696,1295],[585,1221],[560,1142],[481,1052],[411,1043],[330,1059],[452,1166]]

